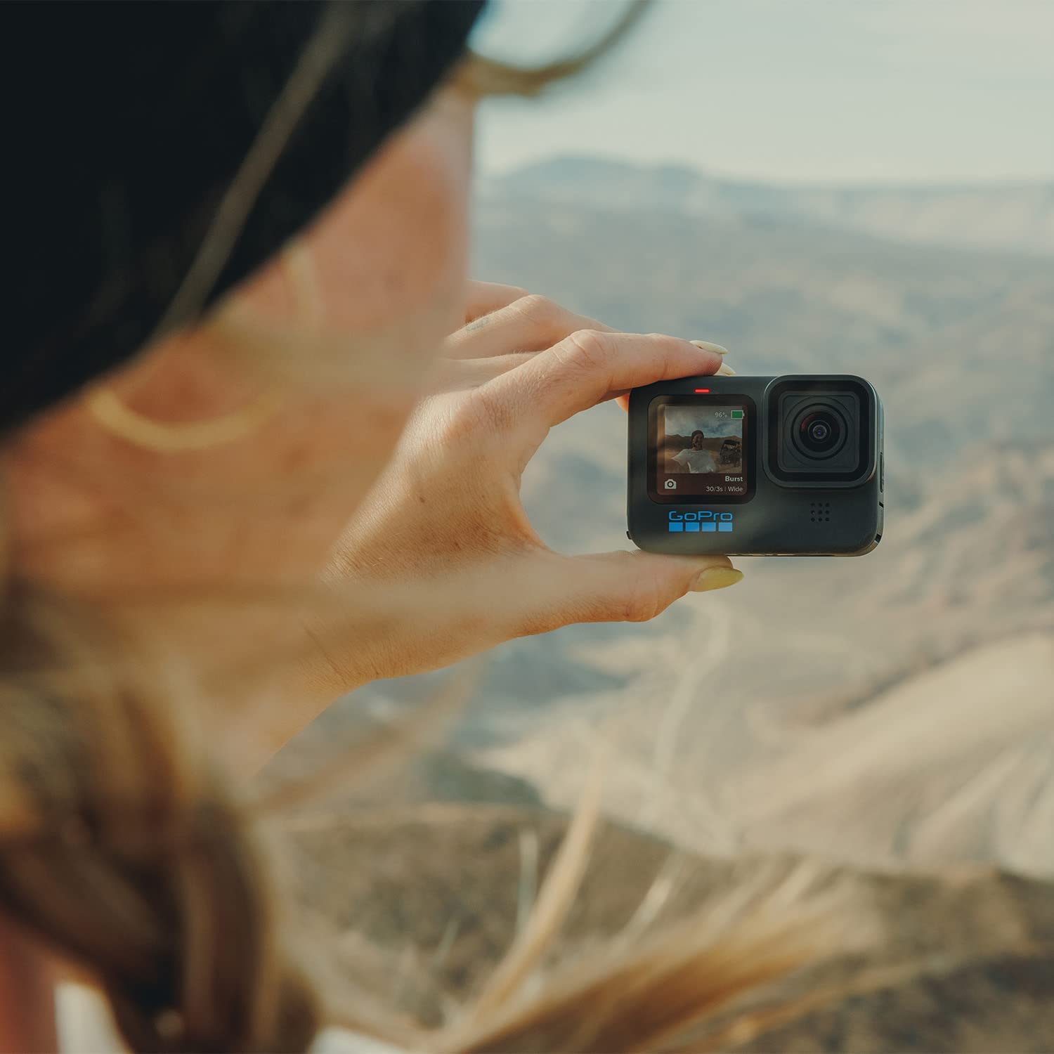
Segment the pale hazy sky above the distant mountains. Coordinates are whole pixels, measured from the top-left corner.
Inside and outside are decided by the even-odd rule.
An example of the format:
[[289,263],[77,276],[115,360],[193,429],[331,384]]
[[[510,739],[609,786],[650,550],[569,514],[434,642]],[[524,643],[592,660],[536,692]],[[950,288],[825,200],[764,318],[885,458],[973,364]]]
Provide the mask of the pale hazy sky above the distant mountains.
[[[475,45],[536,60],[617,0],[499,0]],[[553,154],[773,181],[1054,179],[1054,0],[659,0],[602,67],[489,101],[481,171]]]

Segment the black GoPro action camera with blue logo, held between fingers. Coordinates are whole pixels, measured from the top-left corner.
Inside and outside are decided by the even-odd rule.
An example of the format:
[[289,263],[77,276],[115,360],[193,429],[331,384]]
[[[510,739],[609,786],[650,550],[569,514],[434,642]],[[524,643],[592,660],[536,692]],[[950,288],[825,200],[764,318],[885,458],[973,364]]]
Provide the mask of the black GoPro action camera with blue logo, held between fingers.
[[882,538],[862,377],[682,377],[629,396],[628,534],[651,552],[860,557]]

